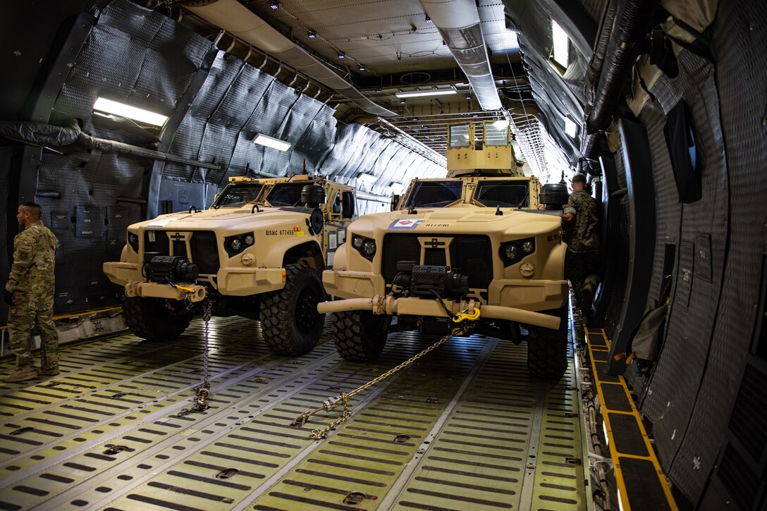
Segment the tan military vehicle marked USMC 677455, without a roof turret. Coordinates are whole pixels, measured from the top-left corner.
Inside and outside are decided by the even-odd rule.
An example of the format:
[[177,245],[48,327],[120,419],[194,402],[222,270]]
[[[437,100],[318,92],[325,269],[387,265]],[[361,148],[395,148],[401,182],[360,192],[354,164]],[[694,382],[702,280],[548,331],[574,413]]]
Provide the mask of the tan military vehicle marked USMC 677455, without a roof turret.
[[261,319],[280,354],[314,348],[324,315],[320,273],[333,264],[354,216],[354,190],[315,176],[232,177],[210,209],[194,207],[128,227],[120,262],[134,334],[177,338],[208,299],[212,315]]

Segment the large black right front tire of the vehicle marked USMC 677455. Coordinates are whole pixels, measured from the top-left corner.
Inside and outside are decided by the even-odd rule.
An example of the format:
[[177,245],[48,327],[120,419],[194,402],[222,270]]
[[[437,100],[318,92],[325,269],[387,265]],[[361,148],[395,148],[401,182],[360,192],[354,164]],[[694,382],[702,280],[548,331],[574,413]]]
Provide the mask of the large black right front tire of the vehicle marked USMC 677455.
[[269,349],[291,356],[311,351],[322,334],[325,315],[317,312],[317,304],[324,299],[322,282],[311,266],[285,266],[285,287],[261,301],[261,326]]

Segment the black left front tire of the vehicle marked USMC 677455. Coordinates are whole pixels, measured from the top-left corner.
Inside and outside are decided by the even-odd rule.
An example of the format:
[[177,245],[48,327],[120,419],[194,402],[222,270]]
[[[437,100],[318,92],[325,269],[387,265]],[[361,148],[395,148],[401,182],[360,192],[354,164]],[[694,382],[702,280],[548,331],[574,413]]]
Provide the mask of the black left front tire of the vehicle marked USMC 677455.
[[192,321],[191,311],[183,305],[168,308],[165,298],[123,295],[123,315],[130,331],[148,341],[173,341]]

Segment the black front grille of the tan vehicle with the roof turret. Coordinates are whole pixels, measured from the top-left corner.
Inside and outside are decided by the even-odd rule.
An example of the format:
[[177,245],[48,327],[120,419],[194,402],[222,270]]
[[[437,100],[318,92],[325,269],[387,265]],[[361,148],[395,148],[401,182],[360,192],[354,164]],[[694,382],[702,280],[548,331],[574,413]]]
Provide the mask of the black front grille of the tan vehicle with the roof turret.
[[[381,274],[387,284],[391,284],[397,275],[398,261],[415,261],[420,264],[421,246],[418,238],[430,236],[424,234],[390,233],[384,236]],[[445,235],[441,235],[445,237]],[[480,235],[449,236],[450,260],[453,270],[469,276],[469,287],[487,289],[492,282],[492,248],[490,239]],[[441,253],[440,253],[441,252]],[[446,264],[443,249],[426,249],[424,264],[442,266]]]

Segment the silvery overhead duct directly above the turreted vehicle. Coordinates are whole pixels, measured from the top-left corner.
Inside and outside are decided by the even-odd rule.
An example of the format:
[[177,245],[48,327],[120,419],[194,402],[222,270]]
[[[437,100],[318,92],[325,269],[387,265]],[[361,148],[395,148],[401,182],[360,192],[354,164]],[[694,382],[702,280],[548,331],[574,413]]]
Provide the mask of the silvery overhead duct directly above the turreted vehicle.
[[421,0],[421,5],[469,79],[482,110],[500,110],[501,100],[474,0]]

